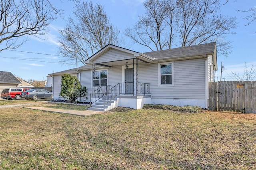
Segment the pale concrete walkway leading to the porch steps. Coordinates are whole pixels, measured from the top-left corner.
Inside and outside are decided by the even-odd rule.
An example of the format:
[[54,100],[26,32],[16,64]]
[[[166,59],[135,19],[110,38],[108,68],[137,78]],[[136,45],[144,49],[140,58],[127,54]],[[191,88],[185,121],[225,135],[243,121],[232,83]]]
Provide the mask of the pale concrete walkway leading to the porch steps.
[[23,108],[50,111],[55,113],[67,113],[67,114],[78,115],[78,116],[88,116],[88,115],[104,113],[103,111],[92,111],[92,110],[79,111],[79,110],[68,110],[68,109],[54,109],[49,107],[23,107]]

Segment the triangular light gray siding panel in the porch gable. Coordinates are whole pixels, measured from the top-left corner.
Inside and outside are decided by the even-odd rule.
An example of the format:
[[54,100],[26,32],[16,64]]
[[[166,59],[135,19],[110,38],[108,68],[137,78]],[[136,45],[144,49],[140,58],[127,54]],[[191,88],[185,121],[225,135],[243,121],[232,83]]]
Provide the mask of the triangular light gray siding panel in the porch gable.
[[100,57],[92,61],[94,63],[106,63],[111,61],[120,61],[126,59],[133,59],[134,55],[126,53],[124,51],[119,51],[116,49],[110,49],[106,53],[102,54]]

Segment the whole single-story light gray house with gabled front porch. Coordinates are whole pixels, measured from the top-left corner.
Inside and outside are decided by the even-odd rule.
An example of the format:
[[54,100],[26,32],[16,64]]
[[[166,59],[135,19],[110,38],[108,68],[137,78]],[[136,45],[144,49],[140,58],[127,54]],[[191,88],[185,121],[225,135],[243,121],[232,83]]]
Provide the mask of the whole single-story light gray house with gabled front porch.
[[61,75],[68,73],[77,76],[88,88],[89,99],[81,100],[95,102],[89,109],[140,109],[144,104],[208,108],[208,83],[217,70],[216,43],[147,53],[109,44],[85,63],[79,68],[49,74],[53,77],[54,99],[59,99]]

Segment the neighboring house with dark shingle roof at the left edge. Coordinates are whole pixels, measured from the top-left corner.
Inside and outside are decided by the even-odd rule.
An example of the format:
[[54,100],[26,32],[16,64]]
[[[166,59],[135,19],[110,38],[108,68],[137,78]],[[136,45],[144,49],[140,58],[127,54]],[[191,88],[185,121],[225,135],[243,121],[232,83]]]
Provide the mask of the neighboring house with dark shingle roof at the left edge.
[[4,88],[18,87],[19,84],[20,81],[11,72],[0,71],[0,92]]

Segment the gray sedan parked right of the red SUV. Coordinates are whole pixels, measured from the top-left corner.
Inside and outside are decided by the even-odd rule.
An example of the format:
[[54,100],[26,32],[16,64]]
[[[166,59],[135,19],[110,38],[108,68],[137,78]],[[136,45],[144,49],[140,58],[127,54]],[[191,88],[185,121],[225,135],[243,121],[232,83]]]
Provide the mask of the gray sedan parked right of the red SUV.
[[52,92],[49,92],[44,89],[39,89],[39,88],[33,88],[30,90],[27,90],[26,92],[21,93],[21,98],[25,99],[44,99],[44,98],[52,98]]

